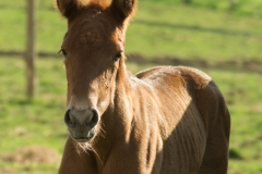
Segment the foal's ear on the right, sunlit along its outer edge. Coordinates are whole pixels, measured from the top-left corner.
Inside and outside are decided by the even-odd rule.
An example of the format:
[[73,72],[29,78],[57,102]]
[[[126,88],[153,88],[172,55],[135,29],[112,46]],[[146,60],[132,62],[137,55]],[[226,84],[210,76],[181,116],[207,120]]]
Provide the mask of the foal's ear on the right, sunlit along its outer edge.
[[123,22],[126,18],[130,18],[136,8],[138,0],[112,0],[111,10],[120,22]]

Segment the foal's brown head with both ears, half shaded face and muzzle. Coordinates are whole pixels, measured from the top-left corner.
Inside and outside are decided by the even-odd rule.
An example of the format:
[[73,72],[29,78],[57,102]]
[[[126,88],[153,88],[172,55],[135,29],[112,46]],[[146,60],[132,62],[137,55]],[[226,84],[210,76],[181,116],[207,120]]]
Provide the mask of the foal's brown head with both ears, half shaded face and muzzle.
[[73,139],[90,141],[114,100],[124,33],[135,0],[57,0],[68,20],[61,52],[68,78],[64,122]]

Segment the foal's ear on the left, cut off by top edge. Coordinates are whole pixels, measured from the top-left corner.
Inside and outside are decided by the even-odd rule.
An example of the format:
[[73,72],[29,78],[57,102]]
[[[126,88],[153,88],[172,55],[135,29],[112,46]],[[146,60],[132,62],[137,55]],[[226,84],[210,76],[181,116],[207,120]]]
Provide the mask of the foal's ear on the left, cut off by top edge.
[[58,10],[67,18],[71,18],[83,5],[82,0],[56,0],[56,1]]

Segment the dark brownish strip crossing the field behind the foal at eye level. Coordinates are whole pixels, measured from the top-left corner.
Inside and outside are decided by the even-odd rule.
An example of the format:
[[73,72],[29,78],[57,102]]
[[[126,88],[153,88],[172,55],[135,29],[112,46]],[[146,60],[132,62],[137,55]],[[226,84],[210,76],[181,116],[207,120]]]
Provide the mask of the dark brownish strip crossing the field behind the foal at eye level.
[[[12,57],[12,58],[23,58],[24,53],[19,51],[1,51],[0,55]],[[50,53],[50,52],[39,52],[38,58],[53,58],[62,59],[61,54]],[[252,60],[238,60],[231,59],[228,61],[206,61],[201,58],[188,58],[180,59],[176,57],[155,57],[155,58],[145,58],[139,53],[127,54],[127,58],[130,62],[138,64],[155,64],[155,65],[186,65],[194,67],[204,67],[204,69],[221,69],[221,70],[230,70],[230,71],[241,71],[241,72],[254,72],[262,74],[262,61],[261,58],[253,58]]]

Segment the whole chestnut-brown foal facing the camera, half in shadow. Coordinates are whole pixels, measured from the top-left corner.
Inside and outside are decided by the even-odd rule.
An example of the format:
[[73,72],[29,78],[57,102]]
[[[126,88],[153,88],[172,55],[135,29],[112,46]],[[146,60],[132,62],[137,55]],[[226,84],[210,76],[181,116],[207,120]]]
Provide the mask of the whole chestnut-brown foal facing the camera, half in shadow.
[[59,174],[225,174],[230,117],[206,74],[124,65],[124,34],[136,0],[57,0],[68,20],[70,136]]

